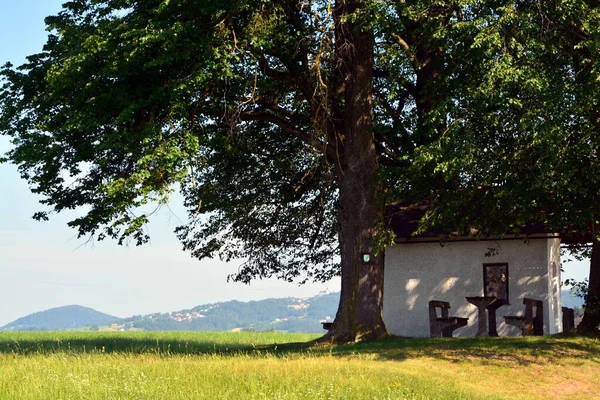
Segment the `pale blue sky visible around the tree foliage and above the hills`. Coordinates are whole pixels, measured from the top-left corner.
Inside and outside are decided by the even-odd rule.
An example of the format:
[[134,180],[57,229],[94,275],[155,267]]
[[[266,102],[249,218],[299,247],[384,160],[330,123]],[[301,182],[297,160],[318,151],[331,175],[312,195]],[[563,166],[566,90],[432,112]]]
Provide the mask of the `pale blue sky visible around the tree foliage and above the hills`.
[[[42,49],[44,17],[63,0],[0,0],[0,64],[20,65]],[[10,148],[0,137],[0,153]],[[55,215],[50,222],[31,219],[40,210],[13,165],[0,164],[0,326],[51,307],[79,304],[125,317],[166,312],[231,299],[312,296],[339,280],[298,286],[275,280],[251,285],[226,283],[236,263],[198,262],[180,250],[172,231],[184,215],[177,204],[150,224],[152,242],[120,247],[85,243],[66,222],[77,214]],[[173,211],[174,210],[174,211]],[[583,279],[586,263],[565,265],[566,276]]]

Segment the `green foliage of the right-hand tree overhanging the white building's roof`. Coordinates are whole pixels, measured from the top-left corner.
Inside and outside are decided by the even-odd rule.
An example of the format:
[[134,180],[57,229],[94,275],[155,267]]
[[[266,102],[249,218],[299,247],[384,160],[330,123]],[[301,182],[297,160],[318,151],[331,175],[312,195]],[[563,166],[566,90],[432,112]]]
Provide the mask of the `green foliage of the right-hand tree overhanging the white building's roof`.
[[415,175],[444,181],[427,222],[461,234],[519,233],[531,222],[596,232],[599,9],[556,1],[498,10],[475,36],[486,60],[462,110],[415,164]]

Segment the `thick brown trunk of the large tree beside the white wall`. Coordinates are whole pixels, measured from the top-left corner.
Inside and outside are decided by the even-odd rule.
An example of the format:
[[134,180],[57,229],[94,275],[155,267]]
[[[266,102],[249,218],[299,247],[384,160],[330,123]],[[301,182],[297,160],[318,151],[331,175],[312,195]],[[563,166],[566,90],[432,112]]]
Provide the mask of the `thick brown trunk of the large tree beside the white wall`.
[[[373,32],[346,22],[356,1],[338,1],[336,57],[343,73],[344,120],[339,182],[339,243],[342,272],[335,342],[357,342],[387,335],[383,323],[383,255],[373,254],[372,239],[383,217],[378,201],[378,161],[372,127]],[[368,256],[368,260],[364,257]]]

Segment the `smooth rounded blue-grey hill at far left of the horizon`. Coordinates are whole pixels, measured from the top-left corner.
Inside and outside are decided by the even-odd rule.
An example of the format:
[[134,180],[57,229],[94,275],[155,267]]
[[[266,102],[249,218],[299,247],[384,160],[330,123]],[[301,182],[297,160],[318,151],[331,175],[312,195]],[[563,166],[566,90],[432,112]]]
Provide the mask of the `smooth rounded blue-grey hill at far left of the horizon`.
[[0,327],[0,331],[59,331],[107,325],[118,317],[98,312],[89,307],[64,306],[36,312]]

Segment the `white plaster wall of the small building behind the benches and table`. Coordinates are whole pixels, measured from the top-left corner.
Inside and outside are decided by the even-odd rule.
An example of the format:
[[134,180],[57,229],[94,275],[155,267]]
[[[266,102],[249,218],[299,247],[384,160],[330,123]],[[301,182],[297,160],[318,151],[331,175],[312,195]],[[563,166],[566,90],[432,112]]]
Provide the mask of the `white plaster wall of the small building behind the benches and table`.
[[[497,254],[486,257],[492,247],[497,248]],[[444,246],[411,242],[388,247],[383,295],[383,319],[388,331],[399,336],[428,337],[428,302],[442,300],[450,302],[450,315],[469,318],[469,324],[455,330],[454,336],[474,336],[477,308],[465,297],[483,295],[484,263],[508,263],[510,304],[497,310],[499,335],[520,335],[520,330],[504,323],[503,316],[523,315],[524,297],[544,302],[544,333],[554,333],[559,329],[556,322],[560,315],[555,312],[557,300],[554,299],[552,314],[549,313],[549,294],[552,293],[549,288],[553,288],[555,281],[559,283],[560,277],[549,277],[549,268],[552,260],[560,263],[559,247],[558,239],[532,239],[528,243],[522,240],[447,242]],[[559,293],[560,286],[558,289]]]

